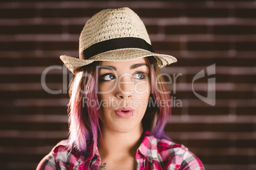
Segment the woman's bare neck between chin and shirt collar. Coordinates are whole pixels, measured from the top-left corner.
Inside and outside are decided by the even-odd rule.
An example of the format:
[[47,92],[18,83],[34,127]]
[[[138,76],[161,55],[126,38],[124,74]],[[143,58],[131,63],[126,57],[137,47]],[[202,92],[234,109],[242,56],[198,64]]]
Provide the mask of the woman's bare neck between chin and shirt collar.
[[112,155],[124,155],[135,157],[143,135],[142,125],[127,133],[110,131],[103,127],[102,136],[99,140],[99,154],[101,157]]

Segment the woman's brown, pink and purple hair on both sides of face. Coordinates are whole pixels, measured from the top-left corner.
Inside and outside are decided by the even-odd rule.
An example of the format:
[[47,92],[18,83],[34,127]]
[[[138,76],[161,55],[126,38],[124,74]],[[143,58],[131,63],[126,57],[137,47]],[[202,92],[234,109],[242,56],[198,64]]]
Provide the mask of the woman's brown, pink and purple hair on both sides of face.
[[[171,115],[171,105],[160,106],[161,101],[169,101],[164,77],[160,75],[157,61],[153,56],[145,58],[149,69],[151,93],[148,107],[142,119],[143,130],[149,131],[156,138],[169,139],[164,133],[167,118]],[[97,147],[97,139],[101,136],[99,121],[99,102],[97,96],[97,66],[101,62],[93,62],[81,67],[69,86],[69,148],[86,152],[89,143]],[[97,102],[96,102],[97,101]]]

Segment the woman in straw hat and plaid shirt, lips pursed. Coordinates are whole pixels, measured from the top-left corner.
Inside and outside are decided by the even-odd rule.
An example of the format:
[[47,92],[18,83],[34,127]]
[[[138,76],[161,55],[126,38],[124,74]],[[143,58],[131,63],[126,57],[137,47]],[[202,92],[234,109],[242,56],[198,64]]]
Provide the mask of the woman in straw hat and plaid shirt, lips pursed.
[[75,74],[69,139],[37,169],[204,169],[164,133],[171,108],[162,103],[171,99],[159,68],[176,58],[153,51],[134,11],[118,8],[92,16],[79,49],[79,59],[60,56]]

